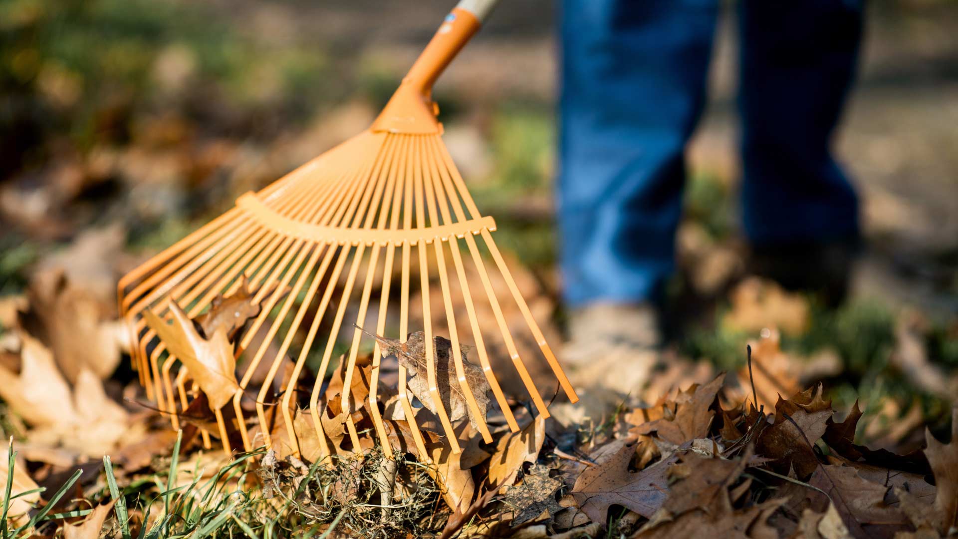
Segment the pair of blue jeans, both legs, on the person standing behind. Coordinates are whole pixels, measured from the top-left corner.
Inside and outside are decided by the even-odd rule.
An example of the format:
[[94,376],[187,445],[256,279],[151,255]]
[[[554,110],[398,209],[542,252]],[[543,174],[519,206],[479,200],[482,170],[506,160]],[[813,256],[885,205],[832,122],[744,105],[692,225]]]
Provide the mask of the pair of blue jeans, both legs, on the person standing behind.
[[[862,6],[740,0],[741,201],[756,246],[857,236],[830,142]],[[683,150],[705,101],[719,0],[562,0],[559,226],[565,299],[655,300],[674,269]]]

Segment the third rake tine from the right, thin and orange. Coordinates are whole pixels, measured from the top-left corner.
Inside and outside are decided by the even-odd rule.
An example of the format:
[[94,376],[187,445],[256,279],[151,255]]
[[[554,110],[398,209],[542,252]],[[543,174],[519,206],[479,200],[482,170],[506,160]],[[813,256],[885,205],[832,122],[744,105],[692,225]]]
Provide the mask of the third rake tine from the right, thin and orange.
[[[430,146],[430,152],[435,153],[434,145],[439,144],[439,141],[435,140],[434,137],[428,137],[426,142],[427,145]],[[458,196],[455,194],[455,189],[451,184],[445,167],[438,166],[438,173],[438,175],[435,173],[433,174],[433,182],[435,184],[437,199],[441,201],[440,209],[443,210],[443,218],[445,222],[448,223],[451,221],[451,218],[448,215],[448,206],[452,207],[452,211],[458,221],[466,221],[466,216],[463,212],[462,205],[459,203],[459,199],[456,198]],[[448,202],[448,206],[446,205],[446,202]],[[473,232],[473,234],[476,232]],[[466,236],[471,239],[470,234],[465,235],[464,239]],[[513,433],[518,432],[519,426],[515,422],[513,410],[509,406],[509,401],[506,400],[506,395],[502,392],[502,387],[499,386],[499,381],[496,379],[495,373],[492,370],[492,365],[489,361],[489,355],[486,351],[486,344],[483,340],[482,331],[479,328],[479,319],[475,312],[475,304],[472,302],[472,293],[469,290],[469,283],[468,278],[466,277],[466,269],[463,265],[462,253],[459,250],[459,239],[455,236],[449,237],[449,249],[452,252],[453,265],[456,268],[456,275],[459,278],[459,287],[463,294],[463,303],[466,305],[469,326],[472,330],[472,339],[476,347],[476,353],[479,356],[479,364],[482,365],[483,374],[485,374],[486,380],[489,382],[490,388],[492,389],[492,394],[495,396],[495,400],[499,404],[499,409],[502,410],[502,413],[506,418],[506,424],[509,425],[509,429]]]

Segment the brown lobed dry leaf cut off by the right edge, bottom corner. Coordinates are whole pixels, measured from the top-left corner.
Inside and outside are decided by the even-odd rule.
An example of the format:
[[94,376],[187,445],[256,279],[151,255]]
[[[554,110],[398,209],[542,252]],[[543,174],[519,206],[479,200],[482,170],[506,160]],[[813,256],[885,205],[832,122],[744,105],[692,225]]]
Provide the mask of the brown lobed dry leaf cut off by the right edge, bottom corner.
[[902,488],[896,488],[895,494],[901,500],[901,509],[919,532],[935,531],[948,536],[958,527],[958,406],[951,409],[950,443],[936,440],[928,430],[924,432],[924,439],[927,444],[924,455],[935,476],[935,503],[929,507]]

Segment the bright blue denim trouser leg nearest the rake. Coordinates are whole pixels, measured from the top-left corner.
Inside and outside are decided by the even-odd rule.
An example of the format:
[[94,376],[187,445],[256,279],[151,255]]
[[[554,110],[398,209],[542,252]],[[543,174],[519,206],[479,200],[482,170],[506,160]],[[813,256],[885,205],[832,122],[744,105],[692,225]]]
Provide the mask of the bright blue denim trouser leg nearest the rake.
[[563,0],[565,299],[654,299],[673,271],[682,151],[704,102],[716,0]]

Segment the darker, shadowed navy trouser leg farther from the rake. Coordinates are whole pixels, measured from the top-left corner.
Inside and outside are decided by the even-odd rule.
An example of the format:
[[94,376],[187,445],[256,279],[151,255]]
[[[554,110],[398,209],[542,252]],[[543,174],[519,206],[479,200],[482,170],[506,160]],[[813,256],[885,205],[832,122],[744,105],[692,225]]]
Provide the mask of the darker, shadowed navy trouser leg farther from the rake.
[[855,191],[829,148],[855,75],[861,0],[741,0],[741,197],[753,245],[858,233]]

